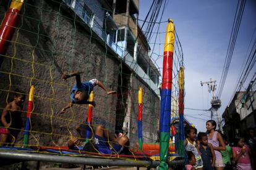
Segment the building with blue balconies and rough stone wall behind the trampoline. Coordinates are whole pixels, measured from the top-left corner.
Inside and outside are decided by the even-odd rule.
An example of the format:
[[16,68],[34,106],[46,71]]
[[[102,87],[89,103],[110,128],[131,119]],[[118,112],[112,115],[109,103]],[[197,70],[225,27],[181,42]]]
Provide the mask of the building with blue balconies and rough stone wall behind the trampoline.
[[[4,4],[0,10],[6,9]],[[84,72],[83,81],[97,78],[117,91],[110,96],[95,87],[93,123],[105,124],[111,131],[125,126],[132,142],[137,140],[137,91],[142,87],[144,140],[156,140],[160,72],[148,56],[150,47],[137,24],[138,14],[138,0],[26,1],[7,54],[2,56],[0,111],[17,87],[28,93],[30,85],[35,85],[30,144],[66,144],[75,136],[77,124],[85,123],[87,106],[75,105],[59,113],[69,102],[75,81],[63,82],[61,75],[75,70]]]

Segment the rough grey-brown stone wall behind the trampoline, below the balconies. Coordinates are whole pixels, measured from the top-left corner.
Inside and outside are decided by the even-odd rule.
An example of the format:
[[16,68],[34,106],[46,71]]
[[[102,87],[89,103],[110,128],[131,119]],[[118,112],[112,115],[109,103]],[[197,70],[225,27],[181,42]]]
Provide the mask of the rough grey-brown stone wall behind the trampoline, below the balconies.
[[[70,11],[63,10],[59,3],[53,1],[26,1],[18,29],[4,56],[0,70],[1,112],[6,103],[12,100],[12,91],[19,88],[28,94],[30,85],[35,86],[31,145],[66,145],[69,136],[76,135],[75,127],[85,123],[87,105],[75,105],[66,113],[59,113],[69,102],[70,87],[75,83],[74,78],[62,81],[62,73],[83,71],[83,81],[97,78],[117,91],[120,86],[119,74],[122,73],[120,69],[126,67],[120,67],[120,60],[100,43],[102,40],[96,34],[86,31],[83,24],[74,22]],[[1,12],[1,20],[3,17]],[[137,103],[137,89],[139,86],[143,87],[147,101],[143,116],[148,121],[148,124],[143,123],[143,131],[149,138],[153,138],[158,127],[159,99],[142,84],[140,78],[132,76],[132,82],[134,83],[122,86],[132,87],[134,103]],[[100,87],[95,87],[93,93],[96,102],[93,123],[105,124],[114,131],[119,94],[106,95]],[[24,124],[27,100],[28,96],[22,115]],[[134,106],[132,114],[137,113],[137,104]],[[125,115],[126,112],[122,111],[122,114]],[[132,119],[131,124],[132,128],[137,128],[136,119]],[[23,132],[19,135],[19,144],[22,144],[22,137]]]

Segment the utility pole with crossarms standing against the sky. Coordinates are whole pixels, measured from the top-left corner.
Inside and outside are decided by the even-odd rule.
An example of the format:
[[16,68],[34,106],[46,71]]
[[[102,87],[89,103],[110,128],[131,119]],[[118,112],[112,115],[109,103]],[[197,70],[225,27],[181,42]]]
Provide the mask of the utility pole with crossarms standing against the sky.
[[211,99],[211,119],[213,119],[213,113],[216,112],[217,115],[217,121],[218,121],[218,127],[220,128],[220,131],[223,132],[223,128],[221,125],[221,117],[220,117],[220,112],[219,112],[219,108],[221,107],[221,100],[218,99],[218,97],[216,97],[215,91],[216,91],[216,80],[212,80],[210,78],[210,81],[206,81],[206,82],[202,82],[200,81],[201,86],[203,86],[203,84],[207,84],[208,86],[208,92],[212,92],[213,94],[213,99]]

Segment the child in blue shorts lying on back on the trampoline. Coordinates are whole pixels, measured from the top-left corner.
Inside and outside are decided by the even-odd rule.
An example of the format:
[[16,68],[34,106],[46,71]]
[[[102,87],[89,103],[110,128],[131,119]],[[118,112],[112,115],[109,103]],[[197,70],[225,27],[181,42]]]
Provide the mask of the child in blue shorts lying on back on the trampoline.
[[[135,153],[138,146],[129,148],[129,138],[126,134],[119,133],[117,137],[114,134],[110,134],[108,129],[103,125],[98,125],[94,129],[92,144],[83,146],[83,150],[88,152],[99,152],[103,154],[123,153],[129,155],[130,152]],[[82,142],[76,137],[72,137],[68,143],[70,149],[77,150],[78,146],[82,145]]]

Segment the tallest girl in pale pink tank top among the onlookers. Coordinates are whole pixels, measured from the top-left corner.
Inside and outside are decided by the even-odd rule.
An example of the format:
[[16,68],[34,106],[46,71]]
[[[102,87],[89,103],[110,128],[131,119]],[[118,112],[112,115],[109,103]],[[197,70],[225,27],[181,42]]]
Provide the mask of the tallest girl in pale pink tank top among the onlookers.
[[208,120],[206,126],[208,133],[208,143],[213,145],[213,150],[215,152],[215,169],[222,170],[224,169],[225,165],[223,163],[220,151],[226,150],[226,145],[221,134],[216,131],[216,122],[214,120]]

